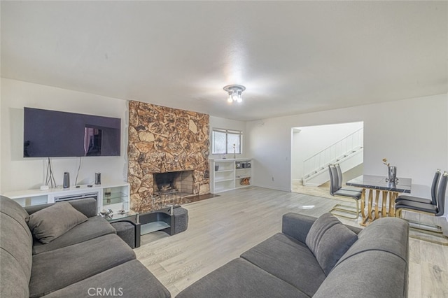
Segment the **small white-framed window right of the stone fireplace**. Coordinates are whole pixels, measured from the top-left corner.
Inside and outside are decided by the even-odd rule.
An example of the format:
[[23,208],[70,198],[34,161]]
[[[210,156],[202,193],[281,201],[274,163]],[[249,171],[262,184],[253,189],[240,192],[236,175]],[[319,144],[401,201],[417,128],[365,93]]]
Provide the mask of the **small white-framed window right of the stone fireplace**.
[[243,132],[239,130],[214,128],[211,134],[211,154],[241,154],[242,136]]

